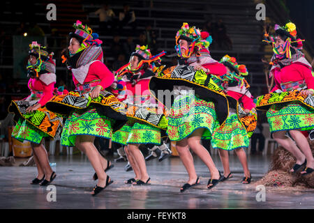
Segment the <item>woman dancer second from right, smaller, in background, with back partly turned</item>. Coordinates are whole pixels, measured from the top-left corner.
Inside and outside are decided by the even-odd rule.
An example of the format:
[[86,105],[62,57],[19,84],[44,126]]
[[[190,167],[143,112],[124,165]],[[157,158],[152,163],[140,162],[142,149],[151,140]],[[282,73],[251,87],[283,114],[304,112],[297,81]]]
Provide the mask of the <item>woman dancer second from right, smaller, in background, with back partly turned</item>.
[[220,60],[227,69],[227,74],[216,77],[218,85],[223,87],[229,100],[229,116],[222,128],[217,128],[211,139],[211,146],[217,148],[220,160],[223,162],[223,178],[220,181],[232,178],[229,167],[229,155],[227,151],[234,150],[239,157],[241,165],[244,169],[244,178],[242,183],[251,183],[251,173],[248,170],[248,161],[244,148],[248,148],[250,137],[256,127],[256,111],[255,104],[251,93],[248,91],[250,87],[246,79],[248,71],[246,66],[238,65],[234,57],[228,55],[223,56]]

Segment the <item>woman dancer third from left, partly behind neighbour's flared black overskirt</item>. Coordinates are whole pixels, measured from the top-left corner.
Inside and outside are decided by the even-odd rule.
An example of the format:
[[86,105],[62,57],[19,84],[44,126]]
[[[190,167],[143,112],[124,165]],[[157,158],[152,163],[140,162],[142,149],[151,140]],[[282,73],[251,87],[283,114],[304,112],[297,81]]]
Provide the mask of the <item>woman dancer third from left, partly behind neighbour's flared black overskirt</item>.
[[126,180],[126,184],[149,185],[144,156],[140,144],[161,144],[161,132],[167,129],[163,106],[158,105],[156,99],[148,89],[151,77],[156,74],[155,61],[160,62],[161,52],[151,56],[147,47],[137,45],[131,54],[130,63],[117,70],[119,81],[117,85],[124,84],[126,93],[120,94],[121,100],[128,106],[126,116],[128,123],[121,130],[115,132],[112,141],[125,146],[126,157],[132,167],[135,177]]

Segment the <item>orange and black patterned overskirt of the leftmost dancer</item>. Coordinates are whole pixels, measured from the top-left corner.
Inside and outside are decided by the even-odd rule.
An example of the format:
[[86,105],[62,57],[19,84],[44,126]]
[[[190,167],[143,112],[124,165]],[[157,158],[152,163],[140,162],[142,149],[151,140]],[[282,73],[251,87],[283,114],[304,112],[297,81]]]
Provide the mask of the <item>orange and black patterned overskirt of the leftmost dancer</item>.
[[50,112],[46,107],[40,107],[35,112],[27,113],[26,109],[37,103],[37,100],[13,100],[8,108],[8,112],[15,114],[15,121],[20,118],[27,121],[25,126],[33,125],[33,128],[45,132],[52,139],[61,132],[62,118],[54,112]]

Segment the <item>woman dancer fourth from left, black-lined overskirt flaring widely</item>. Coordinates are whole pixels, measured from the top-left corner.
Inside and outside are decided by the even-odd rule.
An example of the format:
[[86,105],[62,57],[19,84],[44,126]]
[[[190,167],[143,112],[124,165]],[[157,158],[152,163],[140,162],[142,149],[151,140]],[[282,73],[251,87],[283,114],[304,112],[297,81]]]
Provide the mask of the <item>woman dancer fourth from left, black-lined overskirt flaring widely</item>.
[[167,134],[170,140],[177,141],[177,151],[189,175],[181,192],[200,183],[189,147],[209,168],[207,188],[211,189],[217,185],[220,172],[200,140],[211,139],[216,120],[223,124],[227,118],[227,98],[211,80],[211,74],[224,75],[227,70],[209,54],[209,33],[202,32],[201,36],[199,29],[184,23],[177,32],[176,43],[179,65],[165,70],[163,77],[153,77],[149,88],[174,91],[177,95],[171,103]]

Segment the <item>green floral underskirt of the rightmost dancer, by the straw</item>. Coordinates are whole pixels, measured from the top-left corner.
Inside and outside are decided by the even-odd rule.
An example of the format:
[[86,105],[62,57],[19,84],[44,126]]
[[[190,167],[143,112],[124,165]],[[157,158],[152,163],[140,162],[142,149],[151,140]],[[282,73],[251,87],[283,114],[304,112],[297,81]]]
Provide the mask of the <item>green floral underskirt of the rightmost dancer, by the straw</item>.
[[312,130],[314,128],[314,109],[301,102],[271,105],[267,112],[271,132],[285,130]]

